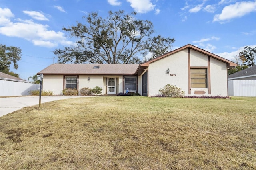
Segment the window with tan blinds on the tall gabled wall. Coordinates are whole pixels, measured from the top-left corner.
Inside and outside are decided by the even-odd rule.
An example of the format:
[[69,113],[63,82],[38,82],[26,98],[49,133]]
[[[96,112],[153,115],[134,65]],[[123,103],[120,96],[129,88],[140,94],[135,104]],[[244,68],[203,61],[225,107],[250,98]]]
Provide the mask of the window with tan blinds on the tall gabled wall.
[[191,88],[207,88],[207,69],[191,69]]

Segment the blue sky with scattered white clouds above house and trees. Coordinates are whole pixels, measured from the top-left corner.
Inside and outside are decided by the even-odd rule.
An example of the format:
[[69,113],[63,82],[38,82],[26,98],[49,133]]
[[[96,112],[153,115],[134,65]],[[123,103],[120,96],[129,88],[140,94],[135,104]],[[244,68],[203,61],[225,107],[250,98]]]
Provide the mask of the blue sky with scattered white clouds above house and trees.
[[256,47],[256,0],[1,0],[0,43],[20,47],[20,78],[28,80],[57,62],[53,51],[73,45],[63,27],[82,16],[136,11],[156,35],[175,38],[172,49],[192,44],[234,61],[245,46]]

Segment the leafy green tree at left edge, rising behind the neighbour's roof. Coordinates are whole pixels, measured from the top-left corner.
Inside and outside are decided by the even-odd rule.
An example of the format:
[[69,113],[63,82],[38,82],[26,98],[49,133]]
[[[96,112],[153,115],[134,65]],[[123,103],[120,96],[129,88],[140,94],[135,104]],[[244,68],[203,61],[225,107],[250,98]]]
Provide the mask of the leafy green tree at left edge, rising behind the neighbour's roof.
[[0,72],[19,77],[19,74],[10,72],[10,64],[14,64],[13,68],[17,69],[17,61],[21,59],[20,47],[6,47],[0,44]]

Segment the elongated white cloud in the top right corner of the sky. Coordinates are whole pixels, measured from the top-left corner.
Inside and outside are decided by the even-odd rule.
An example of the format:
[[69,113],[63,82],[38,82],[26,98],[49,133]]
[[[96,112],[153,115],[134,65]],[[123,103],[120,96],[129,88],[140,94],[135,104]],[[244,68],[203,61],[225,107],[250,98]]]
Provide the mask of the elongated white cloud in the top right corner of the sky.
[[239,18],[254,11],[256,11],[256,1],[236,2],[236,4],[225,6],[221,14],[216,14],[214,16],[213,22],[222,22],[233,18]]

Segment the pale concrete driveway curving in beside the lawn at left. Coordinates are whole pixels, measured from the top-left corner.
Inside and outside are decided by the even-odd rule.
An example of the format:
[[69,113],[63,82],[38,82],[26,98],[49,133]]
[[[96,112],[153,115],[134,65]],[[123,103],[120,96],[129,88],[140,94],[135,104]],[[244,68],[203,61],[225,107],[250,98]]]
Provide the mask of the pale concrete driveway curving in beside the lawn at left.
[[[54,100],[69,98],[96,97],[96,96],[41,96],[41,104]],[[10,98],[0,98],[0,117],[12,113],[27,106],[39,106],[39,96],[20,96]]]

